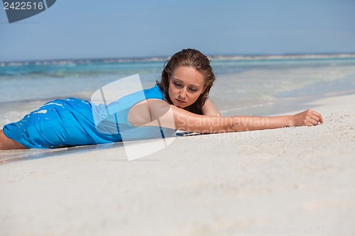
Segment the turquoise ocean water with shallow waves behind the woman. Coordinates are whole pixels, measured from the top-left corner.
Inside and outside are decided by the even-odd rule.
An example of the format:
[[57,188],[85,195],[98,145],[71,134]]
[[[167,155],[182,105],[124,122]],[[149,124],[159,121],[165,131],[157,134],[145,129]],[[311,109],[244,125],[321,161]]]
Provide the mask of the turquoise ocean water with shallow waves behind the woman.
[[[0,62],[0,125],[52,99],[89,100],[97,89],[132,74],[139,74],[143,88],[149,88],[160,79],[167,59]],[[355,55],[211,60],[217,80],[209,98],[228,115],[270,114],[285,104],[293,111],[301,102],[355,91]]]

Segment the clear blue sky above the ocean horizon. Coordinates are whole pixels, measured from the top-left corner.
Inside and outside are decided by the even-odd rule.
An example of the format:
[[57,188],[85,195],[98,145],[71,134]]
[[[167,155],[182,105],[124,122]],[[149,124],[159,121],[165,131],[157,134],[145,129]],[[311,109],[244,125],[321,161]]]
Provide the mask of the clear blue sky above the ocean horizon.
[[57,0],[9,24],[0,61],[355,52],[354,0]]

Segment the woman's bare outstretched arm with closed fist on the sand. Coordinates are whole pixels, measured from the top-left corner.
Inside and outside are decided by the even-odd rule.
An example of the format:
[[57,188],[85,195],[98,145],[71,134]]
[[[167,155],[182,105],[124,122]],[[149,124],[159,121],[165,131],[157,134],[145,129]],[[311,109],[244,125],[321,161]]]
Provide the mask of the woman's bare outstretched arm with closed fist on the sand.
[[[147,106],[148,105],[148,106]],[[147,116],[138,111],[143,108],[134,106],[129,114],[129,122],[136,126],[157,125],[156,120],[166,128],[173,128],[197,133],[226,133],[247,130],[265,130],[287,126],[312,126],[323,123],[322,116],[312,110],[303,111],[293,116],[205,116],[190,113],[182,108],[170,105],[165,101],[149,99],[146,107]],[[138,111],[136,109],[139,109]],[[136,117],[146,117],[139,121]]]

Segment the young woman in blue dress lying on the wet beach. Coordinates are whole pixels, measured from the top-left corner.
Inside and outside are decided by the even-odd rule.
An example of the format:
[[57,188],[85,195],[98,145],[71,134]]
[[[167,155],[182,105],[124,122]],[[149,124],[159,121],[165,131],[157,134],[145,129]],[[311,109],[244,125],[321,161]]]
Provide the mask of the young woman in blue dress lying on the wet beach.
[[225,133],[323,123],[322,116],[312,110],[293,116],[223,117],[208,99],[214,79],[208,58],[198,50],[185,49],[168,60],[160,82],[143,90],[145,99],[138,91],[108,106],[80,99],[50,101],[17,123],[5,125],[0,130],[0,149],[140,140],[166,136],[169,130]]

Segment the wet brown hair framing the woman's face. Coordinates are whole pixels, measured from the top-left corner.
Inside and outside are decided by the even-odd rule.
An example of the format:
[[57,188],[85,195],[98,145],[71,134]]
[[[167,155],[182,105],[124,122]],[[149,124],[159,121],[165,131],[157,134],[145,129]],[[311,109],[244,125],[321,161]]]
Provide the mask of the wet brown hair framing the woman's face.
[[202,106],[207,100],[209,90],[216,79],[214,77],[213,69],[209,64],[209,59],[202,52],[189,48],[175,53],[170,57],[170,60],[165,62],[163,72],[161,73],[161,80],[160,82],[157,81],[156,84],[158,84],[159,88],[163,91],[165,100],[170,104],[173,104],[173,102],[169,97],[169,77],[178,67],[192,67],[203,75],[206,89],[198,97],[195,103],[184,108],[192,113],[202,115]]

